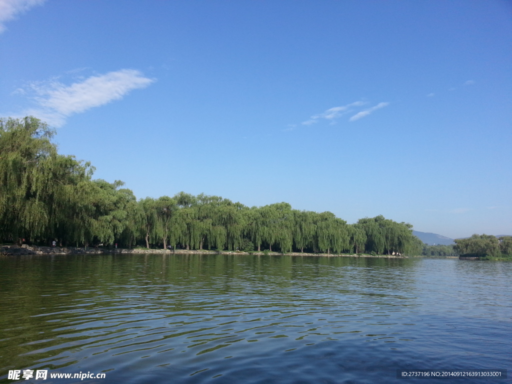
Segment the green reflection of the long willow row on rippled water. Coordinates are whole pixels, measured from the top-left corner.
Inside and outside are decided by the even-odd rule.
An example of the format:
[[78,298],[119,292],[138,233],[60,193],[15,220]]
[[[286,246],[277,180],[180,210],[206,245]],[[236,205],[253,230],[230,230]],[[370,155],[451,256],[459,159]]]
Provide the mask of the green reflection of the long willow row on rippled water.
[[0,348],[9,348],[10,367],[49,358],[57,367],[73,364],[70,346],[79,356],[97,332],[115,343],[127,329],[145,329],[148,318],[199,329],[193,324],[207,323],[212,311],[229,322],[237,313],[336,316],[410,306],[416,262],[229,254],[5,258]]

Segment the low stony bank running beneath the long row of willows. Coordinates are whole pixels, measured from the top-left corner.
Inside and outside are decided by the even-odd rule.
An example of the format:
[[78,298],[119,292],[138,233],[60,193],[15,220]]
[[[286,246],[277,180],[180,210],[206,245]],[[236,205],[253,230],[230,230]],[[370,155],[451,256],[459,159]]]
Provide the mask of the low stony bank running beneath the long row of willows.
[[[23,244],[21,247],[17,245],[4,245],[0,246],[0,254],[7,255],[20,255],[20,254],[110,254],[110,253],[202,253],[202,254],[257,254],[257,255],[282,255],[279,252],[243,252],[243,251],[209,251],[209,250],[187,250],[177,249],[175,251],[168,249],[126,249],[126,248],[94,248],[94,247],[42,247],[36,245]],[[375,257],[375,258],[407,258],[407,256],[387,255],[387,254],[328,254],[328,253],[301,253],[292,252],[287,253],[291,256],[324,256],[324,257]]]

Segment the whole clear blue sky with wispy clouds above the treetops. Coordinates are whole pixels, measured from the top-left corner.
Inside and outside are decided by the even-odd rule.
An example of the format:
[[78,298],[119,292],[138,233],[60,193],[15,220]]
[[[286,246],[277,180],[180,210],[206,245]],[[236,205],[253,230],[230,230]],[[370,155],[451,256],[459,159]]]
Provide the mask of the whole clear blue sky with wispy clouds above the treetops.
[[137,198],[512,234],[508,1],[0,0],[0,116]]

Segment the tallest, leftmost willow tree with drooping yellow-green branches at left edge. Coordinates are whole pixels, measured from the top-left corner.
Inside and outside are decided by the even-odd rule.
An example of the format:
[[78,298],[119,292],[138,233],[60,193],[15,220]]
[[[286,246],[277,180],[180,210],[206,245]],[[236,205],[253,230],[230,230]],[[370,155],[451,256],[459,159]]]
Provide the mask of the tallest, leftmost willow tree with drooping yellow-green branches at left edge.
[[[76,185],[93,168],[57,154],[54,131],[34,117],[0,119],[0,228],[4,239],[48,241],[62,230]],[[60,230],[59,230],[60,229]]]

